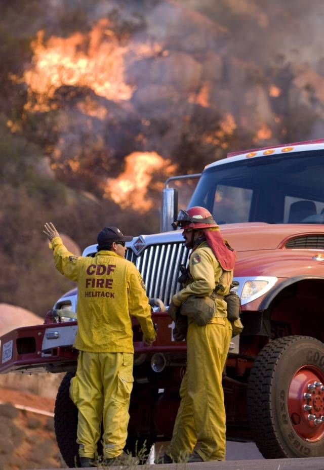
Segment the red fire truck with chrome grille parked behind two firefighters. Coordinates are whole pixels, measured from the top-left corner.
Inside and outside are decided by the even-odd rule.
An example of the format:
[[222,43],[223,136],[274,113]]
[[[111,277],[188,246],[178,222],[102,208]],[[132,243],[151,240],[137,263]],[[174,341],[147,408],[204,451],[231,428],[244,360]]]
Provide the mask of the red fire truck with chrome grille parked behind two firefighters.
[[[207,165],[188,206],[204,206],[237,251],[235,287],[244,331],[231,340],[223,377],[227,439],[254,441],[265,458],[324,456],[324,139],[235,152]],[[167,310],[189,252],[172,230],[177,189],[166,182],[161,233],[127,243],[142,274],[157,340],[143,344],[133,320],[134,388],[126,449],[166,441],[179,406],[186,343]],[[183,179],[186,177],[177,177]],[[84,256],[92,257],[96,245]],[[77,458],[77,410],[69,398],[77,351],[77,290],[45,323],[1,337],[0,372],[66,372],[55,431],[66,464]]]

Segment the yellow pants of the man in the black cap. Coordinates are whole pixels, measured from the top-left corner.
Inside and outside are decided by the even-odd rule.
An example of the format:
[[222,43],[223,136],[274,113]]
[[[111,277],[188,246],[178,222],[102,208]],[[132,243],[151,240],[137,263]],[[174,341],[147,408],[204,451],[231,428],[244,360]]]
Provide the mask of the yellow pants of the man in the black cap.
[[80,457],[97,456],[101,421],[104,457],[123,452],[132,388],[133,354],[79,352],[70,397],[78,409],[76,442]]

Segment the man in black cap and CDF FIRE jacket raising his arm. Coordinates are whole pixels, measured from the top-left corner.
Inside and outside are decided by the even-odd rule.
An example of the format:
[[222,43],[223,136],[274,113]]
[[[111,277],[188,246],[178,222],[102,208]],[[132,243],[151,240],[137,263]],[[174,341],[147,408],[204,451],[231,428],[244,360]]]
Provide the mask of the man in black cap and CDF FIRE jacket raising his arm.
[[77,443],[80,465],[97,466],[97,443],[103,420],[105,465],[119,464],[127,438],[129,402],[133,387],[133,332],[131,315],[150,346],[156,333],[142,277],[125,260],[124,236],[117,227],[98,234],[94,258],[70,253],[52,223],[43,231],[54,251],[55,266],[78,284],[77,333],[79,350],[70,396],[78,408]]

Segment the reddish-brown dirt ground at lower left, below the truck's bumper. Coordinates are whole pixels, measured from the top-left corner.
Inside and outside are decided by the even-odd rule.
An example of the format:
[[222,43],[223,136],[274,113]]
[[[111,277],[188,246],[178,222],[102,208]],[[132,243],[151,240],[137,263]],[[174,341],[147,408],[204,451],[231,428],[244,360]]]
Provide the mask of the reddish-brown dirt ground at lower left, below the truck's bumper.
[[0,388],[0,470],[65,467],[54,420],[14,405],[54,412],[53,398]]

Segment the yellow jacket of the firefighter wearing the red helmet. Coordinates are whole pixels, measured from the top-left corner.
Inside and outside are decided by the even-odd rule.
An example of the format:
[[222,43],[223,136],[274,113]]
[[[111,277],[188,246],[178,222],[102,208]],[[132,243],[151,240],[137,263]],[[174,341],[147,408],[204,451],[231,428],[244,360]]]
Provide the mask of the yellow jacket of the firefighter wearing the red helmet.
[[[206,241],[201,243],[191,254],[189,272],[191,279],[187,285],[172,297],[172,301],[176,306],[183,304],[189,295],[209,296],[218,283],[222,284],[224,289],[218,290],[217,293],[221,295],[229,293],[233,270],[225,271],[222,269]],[[216,299],[216,306],[215,317],[226,317],[227,304],[223,298]]]

